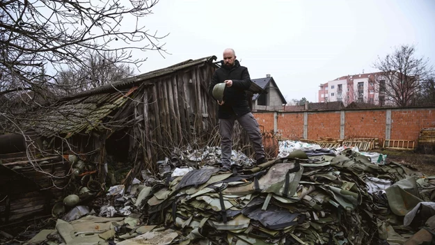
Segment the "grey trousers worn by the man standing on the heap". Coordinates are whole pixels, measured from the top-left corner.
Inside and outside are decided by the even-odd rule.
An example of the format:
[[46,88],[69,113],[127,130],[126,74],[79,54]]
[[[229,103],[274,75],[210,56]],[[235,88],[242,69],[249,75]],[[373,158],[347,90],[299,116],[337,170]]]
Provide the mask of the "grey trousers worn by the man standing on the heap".
[[249,139],[251,139],[253,148],[255,150],[255,159],[260,159],[264,157],[264,147],[262,145],[262,136],[260,133],[260,127],[258,127],[257,120],[255,120],[253,114],[250,112],[239,117],[233,115],[231,116],[231,118],[219,119],[219,134],[221,134],[222,164],[228,166],[231,164],[232,131],[233,131],[235,120],[237,120],[239,124],[243,127],[243,129],[248,133]]

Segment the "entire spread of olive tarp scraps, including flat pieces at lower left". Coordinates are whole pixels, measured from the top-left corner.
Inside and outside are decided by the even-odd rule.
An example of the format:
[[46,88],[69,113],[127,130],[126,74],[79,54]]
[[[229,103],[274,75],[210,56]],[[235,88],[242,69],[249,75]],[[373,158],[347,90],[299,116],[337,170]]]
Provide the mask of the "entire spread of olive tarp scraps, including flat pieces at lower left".
[[93,237],[86,244],[408,245],[432,240],[435,177],[394,162],[374,164],[351,149],[334,153],[292,150],[253,166],[233,152],[235,171],[222,172],[219,148],[175,150],[159,161],[158,175],[143,171],[143,180],[135,179],[128,189],[111,188],[107,205],[96,212],[100,217],[59,219],[56,230],[42,236],[49,244],[67,245],[86,240],[79,237]]

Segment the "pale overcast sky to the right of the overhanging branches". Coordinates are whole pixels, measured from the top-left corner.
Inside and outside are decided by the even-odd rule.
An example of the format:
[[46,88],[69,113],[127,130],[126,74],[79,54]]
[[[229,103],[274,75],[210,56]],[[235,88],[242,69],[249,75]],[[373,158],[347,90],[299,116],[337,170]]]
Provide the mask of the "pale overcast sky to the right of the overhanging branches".
[[319,84],[374,72],[393,47],[416,45],[435,63],[435,0],[187,1],[160,0],[141,19],[170,33],[171,55],[145,52],[140,72],[235,49],[251,79],[271,74],[287,99],[317,102]]

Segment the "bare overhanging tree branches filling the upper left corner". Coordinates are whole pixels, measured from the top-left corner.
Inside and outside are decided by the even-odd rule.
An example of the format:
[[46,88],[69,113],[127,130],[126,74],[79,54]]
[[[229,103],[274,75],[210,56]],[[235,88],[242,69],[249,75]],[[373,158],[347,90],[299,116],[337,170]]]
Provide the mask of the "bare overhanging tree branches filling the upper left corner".
[[[164,36],[150,33],[140,22],[157,2],[1,1],[0,95],[52,86],[56,70],[84,67],[91,50],[116,52],[116,62],[136,65],[146,58],[134,60],[134,50],[165,52],[159,43]],[[43,69],[50,72],[41,82]]]

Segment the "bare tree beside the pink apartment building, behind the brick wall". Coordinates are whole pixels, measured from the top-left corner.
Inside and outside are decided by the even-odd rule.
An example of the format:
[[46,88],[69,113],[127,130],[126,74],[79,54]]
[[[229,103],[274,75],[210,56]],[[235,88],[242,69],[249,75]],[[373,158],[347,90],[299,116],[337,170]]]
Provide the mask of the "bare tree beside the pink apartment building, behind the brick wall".
[[389,98],[397,106],[408,106],[415,103],[420,90],[420,82],[425,81],[432,68],[429,61],[416,57],[416,48],[402,45],[384,58],[378,58],[374,68],[380,70],[376,84],[379,102]]

